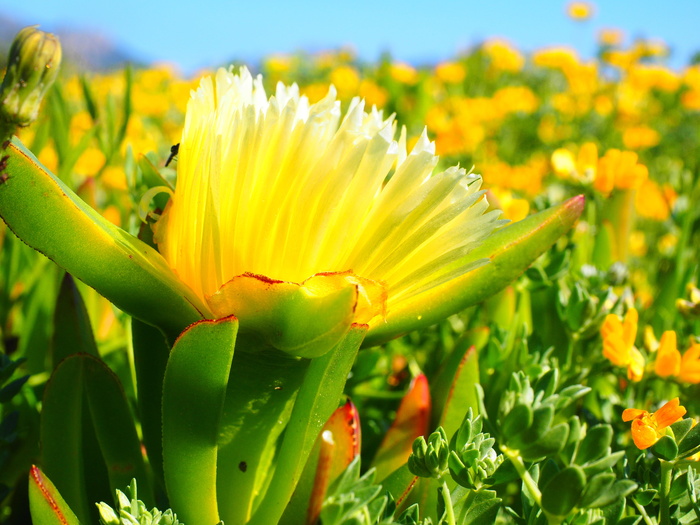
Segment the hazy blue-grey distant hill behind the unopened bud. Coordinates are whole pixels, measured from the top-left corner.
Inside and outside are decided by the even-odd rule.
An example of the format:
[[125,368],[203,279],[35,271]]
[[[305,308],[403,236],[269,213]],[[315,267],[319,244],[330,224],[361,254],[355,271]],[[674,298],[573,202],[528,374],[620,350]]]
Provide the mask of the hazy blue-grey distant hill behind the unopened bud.
[[[20,29],[27,25],[30,24],[22,23],[0,13],[0,52],[2,53],[0,68],[4,68],[6,65],[7,52],[12,39]],[[57,34],[61,40],[64,64],[70,64],[77,69],[106,71],[119,68],[127,62],[141,63],[97,31],[59,27],[51,32]]]

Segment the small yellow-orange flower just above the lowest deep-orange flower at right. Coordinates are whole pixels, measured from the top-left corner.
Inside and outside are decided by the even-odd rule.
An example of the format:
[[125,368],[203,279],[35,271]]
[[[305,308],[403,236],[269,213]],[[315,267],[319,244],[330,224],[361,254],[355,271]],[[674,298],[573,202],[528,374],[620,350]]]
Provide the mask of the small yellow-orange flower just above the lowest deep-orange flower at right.
[[626,366],[631,381],[640,381],[644,376],[644,356],[634,346],[638,319],[637,310],[630,308],[624,321],[615,314],[608,314],[600,329],[603,356],[615,366]]

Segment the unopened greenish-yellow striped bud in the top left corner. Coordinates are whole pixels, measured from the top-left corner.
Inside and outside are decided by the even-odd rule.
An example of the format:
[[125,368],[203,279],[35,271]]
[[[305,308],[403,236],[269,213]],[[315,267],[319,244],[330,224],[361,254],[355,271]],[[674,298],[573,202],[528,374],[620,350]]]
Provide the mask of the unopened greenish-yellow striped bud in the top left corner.
[[[7,72],[0,88],[0,120],[8,135],[37,117],[44,95],[56,79],[61,44],[51,33],[25,27],[10,47]],[[3,140],[7,137],[2,137]]]

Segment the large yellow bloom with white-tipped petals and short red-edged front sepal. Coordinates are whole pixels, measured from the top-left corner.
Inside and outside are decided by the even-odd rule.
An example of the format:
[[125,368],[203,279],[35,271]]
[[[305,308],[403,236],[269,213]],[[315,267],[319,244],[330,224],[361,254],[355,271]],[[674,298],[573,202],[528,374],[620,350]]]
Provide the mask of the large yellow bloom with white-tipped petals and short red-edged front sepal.
[[433,174],[425,132],[408,153],[396,130],[359,99],[343,115],[332,86],[316,104],[281,83],[268,98],[260,76],[220,69],[188,104],[160,252],[214,316],[235,314],[241,331],[296,355],[323,345],[283,340],[280,324],[301,322],[289,306],[315,304],[303,322],[329,317],[329,340],[382,324],[466,273],[459,259],[500,224],[479,177]]

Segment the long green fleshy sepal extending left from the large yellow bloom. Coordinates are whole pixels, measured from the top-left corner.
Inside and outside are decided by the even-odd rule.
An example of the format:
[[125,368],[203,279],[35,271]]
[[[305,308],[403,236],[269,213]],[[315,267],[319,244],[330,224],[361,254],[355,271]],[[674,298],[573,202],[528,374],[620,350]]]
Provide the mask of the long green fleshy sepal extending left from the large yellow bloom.
[[0,216],[20,239],[171,337],[207,316],[158,252],[85,204],[17,139],[6,152]]

